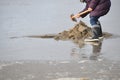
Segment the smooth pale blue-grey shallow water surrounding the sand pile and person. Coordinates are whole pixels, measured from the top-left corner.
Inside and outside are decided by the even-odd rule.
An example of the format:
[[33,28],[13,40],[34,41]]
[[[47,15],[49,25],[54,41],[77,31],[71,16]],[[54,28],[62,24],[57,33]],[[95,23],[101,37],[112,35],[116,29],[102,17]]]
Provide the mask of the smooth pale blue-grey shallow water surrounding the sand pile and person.
[[[119,1],[112,1],[110,13],[101,18],[103,31],[120,35]],[[71,60],[72,50],[77,54],[92,55],[92,46],[79,48],[71,41],[54,39],[16,38],[29,35],[53,34],[74,26],[71,13],[83,8],[79,1],[0,1],[0,60]],[[89,17],[82,19],[89,25]],[[114,21],[114,22],[113,22]],[[107,59],[119,60],[120,38],[104,40],[100,53]],[[78,56],[79,57],[79,56]]]

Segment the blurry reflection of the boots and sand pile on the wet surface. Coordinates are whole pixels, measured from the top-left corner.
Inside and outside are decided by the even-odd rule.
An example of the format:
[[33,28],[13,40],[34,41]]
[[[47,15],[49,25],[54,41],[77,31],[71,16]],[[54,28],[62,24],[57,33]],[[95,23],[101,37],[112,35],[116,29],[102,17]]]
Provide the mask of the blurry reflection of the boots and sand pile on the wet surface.
[[[79,49],[73,48],[71,51],[71,56],[75,60],[81,59],[90,59],[90,60],[98,60],[101,54],[102,41],[101,42],[85,42],[79,44]],[[82,45],[82,46],[81,46]]]

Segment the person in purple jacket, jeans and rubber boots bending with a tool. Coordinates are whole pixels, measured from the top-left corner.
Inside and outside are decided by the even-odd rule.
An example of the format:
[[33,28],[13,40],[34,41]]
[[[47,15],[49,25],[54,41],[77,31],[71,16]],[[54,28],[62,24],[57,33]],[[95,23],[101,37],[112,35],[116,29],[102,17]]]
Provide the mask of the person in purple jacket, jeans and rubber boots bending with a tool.
[[90,24],[92,29],[92,37],[90,41],[99,40],[102,37],[102,27],[98,20],[101,16],[106,15],[111,7],[110,0],[80,0],[82,3],[86,3],[86,7],[78,14],[72,16],[72,18],[84,18],[90,14]]

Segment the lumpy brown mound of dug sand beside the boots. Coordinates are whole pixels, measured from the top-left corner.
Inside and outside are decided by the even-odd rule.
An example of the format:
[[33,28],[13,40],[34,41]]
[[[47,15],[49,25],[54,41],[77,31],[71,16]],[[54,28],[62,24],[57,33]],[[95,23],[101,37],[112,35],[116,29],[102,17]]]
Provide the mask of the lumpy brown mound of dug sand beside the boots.
[[54,38],[56,40],[78,40],[85,39],[89,36],[91,36],[91,28],[88,27],[84,22],[80,21],[72,29],[68,31],[65,30],[56,35]]

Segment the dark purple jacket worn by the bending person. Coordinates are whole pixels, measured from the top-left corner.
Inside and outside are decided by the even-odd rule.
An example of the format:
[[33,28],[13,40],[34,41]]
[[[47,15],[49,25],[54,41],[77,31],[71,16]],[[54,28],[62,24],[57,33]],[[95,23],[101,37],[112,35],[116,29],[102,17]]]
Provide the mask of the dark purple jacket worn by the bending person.
[[[93,11],[90,12],[90,16],[103,16],[106,15],[111,7],[110,0],[85,0],[86,7],[83,11],[88,8],[92,8]],[[81,17],[85,17],[87,14],[81,15]]]

